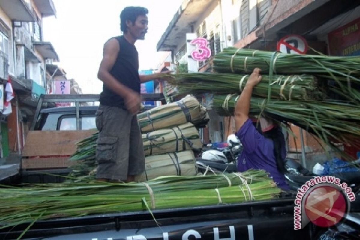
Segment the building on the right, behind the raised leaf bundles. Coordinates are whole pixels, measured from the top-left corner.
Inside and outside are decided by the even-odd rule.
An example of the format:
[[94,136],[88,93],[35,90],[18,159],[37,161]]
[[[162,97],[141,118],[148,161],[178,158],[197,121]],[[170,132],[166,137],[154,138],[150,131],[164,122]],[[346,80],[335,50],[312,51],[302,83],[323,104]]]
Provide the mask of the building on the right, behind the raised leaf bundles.
[[[197,63],[198,72],[211,71],[212,57],[225,47],[276,51],[278,41],[289,34],[307,41],[308,54],[359,55],[359,6],[359,0],[185,0],[158,41],[157,50],[170,51],[174,64],[186,63],[186,33],[206,38],[211,57]],[[211,110],[209,114],[204,142],[224,141],[236,131],[233,119]],[[289,139],[289,151],[301,151],[302,131],[305,151],[320,161],[316,153],[323,149],[317,140],[292,127],[297,137]],[[354,155],[354,149],[349,151]]]

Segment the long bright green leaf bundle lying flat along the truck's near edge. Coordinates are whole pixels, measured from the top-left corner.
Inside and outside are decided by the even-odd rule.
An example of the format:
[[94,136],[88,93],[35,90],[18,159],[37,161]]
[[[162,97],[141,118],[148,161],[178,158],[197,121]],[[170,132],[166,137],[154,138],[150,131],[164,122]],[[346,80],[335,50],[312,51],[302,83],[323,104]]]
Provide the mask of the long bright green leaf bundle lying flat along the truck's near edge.
[[272,199],[280,191],[262,170],[249,170],[241,175],[166,176],[145,183],[88,182],[3,187],[0,188],[0,228],[96,213]]

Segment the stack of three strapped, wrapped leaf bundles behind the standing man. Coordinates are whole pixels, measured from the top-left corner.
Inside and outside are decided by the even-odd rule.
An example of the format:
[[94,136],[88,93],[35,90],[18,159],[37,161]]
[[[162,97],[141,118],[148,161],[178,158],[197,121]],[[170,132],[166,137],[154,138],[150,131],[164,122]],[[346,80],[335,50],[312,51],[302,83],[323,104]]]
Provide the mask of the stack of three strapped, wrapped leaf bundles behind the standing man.
[[[208,121],[207,112],[193,96],[153,108],[138,115],[143,133],[145,172],[136,176],[138,181],[163,175],[195,175],[193,151],[202,148],[194,124]],[[153,130],[155,129],[155,130]],[[150,132],[149,132],[150,131]],[[95,151],[98,133],[77,144],[70,160],[77,161],[70,168],[69,177],[76,181],[94,179]]]

